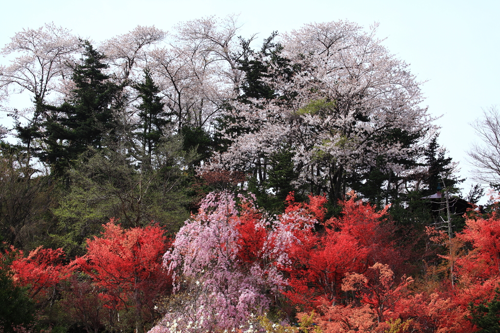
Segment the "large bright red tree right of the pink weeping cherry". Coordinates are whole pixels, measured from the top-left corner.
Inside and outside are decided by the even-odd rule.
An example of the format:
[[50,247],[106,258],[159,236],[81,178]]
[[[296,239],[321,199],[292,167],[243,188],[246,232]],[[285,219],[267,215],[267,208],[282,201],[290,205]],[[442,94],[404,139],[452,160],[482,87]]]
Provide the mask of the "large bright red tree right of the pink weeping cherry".
[[[319,223],[315,229],[297,229],[294,232],[297,241],[287,250],[292,260],[286,267],[292,289],[285,294],[305,309],[317,307],[324,300],[340,301],[340,286],[347,273],[361,273],[376,261],[401,261],[390,241],[392,225],[383,219],[386,209],[376,212],[373,206],[352,195],[349,200],[340,202],[343,207],[340,217],[323,221],[324,196],[309,196],[309,202],[296,203],[290,193],[287,201],[281,218],[296,223],[300,217],[308,215],[309,220]],[[292,212],[295,214],[290,214]],[[298,217],[297,212],[300,212]]]

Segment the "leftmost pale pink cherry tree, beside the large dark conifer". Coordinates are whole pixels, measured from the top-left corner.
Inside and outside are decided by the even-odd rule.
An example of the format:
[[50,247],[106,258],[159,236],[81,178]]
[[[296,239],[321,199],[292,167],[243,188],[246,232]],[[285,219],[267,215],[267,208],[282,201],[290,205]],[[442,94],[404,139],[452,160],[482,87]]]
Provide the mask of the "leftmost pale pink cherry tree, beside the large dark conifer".
[[7,96],[13,92],[29,91],[35,104],[26,112],[12,110],[17,136],[26,144],[28,155],[43,119],[41,105],[51,91],[64,90],[65,84],[61,82],[69,78],[69,64],[80,47],[78,38],[69,30],[48,23],[38,29],[23,29],[15,33],[2,49],[2,54],[10,58],[10,64],[0,67],[0,89]]

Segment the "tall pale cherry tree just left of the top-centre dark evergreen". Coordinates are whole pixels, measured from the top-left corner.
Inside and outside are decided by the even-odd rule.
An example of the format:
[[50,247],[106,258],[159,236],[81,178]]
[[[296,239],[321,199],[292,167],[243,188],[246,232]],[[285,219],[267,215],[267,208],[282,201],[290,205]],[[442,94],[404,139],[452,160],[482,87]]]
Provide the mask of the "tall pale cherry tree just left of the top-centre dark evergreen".
[[151,68],[177,130],[209,128],[235,98],[242,71],[235,16],[205,17],[176,26],[170,44],[152,50]]

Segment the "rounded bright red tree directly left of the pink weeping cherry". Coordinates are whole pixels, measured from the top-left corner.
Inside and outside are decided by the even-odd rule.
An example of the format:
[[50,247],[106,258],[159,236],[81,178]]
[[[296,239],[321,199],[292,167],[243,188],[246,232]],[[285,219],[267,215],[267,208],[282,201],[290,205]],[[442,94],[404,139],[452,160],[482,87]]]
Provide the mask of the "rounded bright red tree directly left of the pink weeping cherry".
[[104,290],[100,296],[107,306],[126,306],[133,298],[141,307],[171,285],[161,265],[167,244],[159,226],[125,230],[113,221],[103,226],[101,237],[87,239],[87,254],[75,263]]

